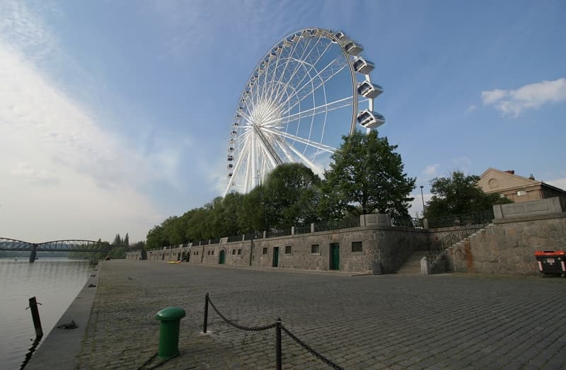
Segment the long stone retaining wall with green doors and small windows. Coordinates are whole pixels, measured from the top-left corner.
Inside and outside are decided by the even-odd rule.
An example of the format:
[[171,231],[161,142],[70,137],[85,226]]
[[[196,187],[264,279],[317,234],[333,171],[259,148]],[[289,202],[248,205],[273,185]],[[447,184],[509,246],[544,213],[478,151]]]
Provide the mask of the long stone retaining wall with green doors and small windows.
[[[149,250],[148,260],[184,260],[187,253],[189,263],[217,265],[224,252],[224,264],[230,266],[273,267],[273,253],[279,248],[278,268],[304,270],[331,270],[331,245],[339,245],[339,270],[352,273],[387,274],[403,265],[415,250],[427,250],[441,236],[451,230],[412,229],[402,226],[359,226],[350,229],[318,231],[313,233],[261,238],[253,241],[221,243],[212,245],[187,245]],[[362,243],[357,250],[356,243]],[[354,243],[354,246],[352,245]],[[318,245],[318,252],[313,245]],[[359,244],[358,244],[359,245]],[[139,259],[139,253],[128,253],[127,259]]]

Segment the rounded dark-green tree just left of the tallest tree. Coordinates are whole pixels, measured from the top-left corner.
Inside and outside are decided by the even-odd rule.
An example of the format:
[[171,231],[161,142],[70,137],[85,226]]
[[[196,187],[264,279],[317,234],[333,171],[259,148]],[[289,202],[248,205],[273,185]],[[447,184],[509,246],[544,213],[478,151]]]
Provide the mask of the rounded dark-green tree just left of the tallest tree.
[[267,176],[262,193],[267,228],[289,228],[318,220],[320,178],[301,163],[284,163]]

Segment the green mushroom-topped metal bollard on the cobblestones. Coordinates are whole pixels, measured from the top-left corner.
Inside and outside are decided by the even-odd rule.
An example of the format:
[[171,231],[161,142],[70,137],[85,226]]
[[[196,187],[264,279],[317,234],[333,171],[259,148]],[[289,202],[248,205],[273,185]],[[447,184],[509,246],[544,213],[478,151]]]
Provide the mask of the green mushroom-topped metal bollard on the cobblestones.
[[184,317],[185,310],[178,307],[163,308],[157,313],[155,318],[161,321],[157,357],[170,359],[179,354],[179,327]]

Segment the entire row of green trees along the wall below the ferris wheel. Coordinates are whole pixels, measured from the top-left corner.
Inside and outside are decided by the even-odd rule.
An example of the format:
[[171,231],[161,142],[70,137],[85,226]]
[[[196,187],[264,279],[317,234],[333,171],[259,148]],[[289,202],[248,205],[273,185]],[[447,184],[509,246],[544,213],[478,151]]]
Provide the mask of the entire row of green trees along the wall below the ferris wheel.
[[406,214],[415,179],[403,173],[396,148],[376,132],[356,132],[345,137],[325,180],[302,164],[284,163],[248,194],[216,197],[182,216],[168,217],[149,230],[146,248],[289,229],[348,213]]

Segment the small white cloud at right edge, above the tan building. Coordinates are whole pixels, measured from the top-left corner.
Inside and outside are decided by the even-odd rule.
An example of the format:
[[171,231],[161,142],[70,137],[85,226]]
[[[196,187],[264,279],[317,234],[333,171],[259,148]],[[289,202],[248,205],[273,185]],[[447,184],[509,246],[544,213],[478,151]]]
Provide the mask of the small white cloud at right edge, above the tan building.
[[483,91],[482,100],[484,105],[493,105],[504,115],[518,117],[523,110],[566,101],[566,79],[531,83],[516,90]]

